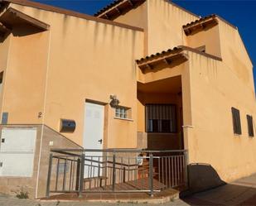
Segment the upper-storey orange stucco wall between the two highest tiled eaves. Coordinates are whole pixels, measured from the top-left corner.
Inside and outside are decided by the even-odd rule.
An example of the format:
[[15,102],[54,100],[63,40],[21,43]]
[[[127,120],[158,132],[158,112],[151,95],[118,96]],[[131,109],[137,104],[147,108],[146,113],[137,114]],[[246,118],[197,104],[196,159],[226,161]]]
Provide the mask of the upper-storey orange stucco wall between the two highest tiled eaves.
[[196,19],[198,17],[167,0],[147,0],[114,21],[144,28],[144,55],[152,55],[188,45],[182,26]]

